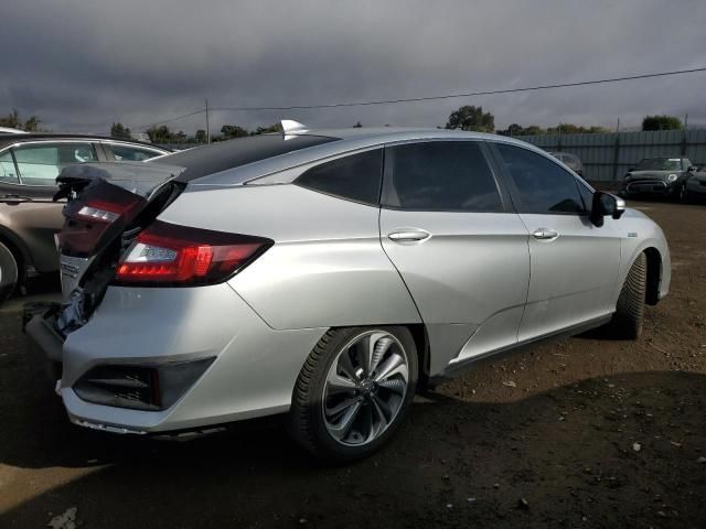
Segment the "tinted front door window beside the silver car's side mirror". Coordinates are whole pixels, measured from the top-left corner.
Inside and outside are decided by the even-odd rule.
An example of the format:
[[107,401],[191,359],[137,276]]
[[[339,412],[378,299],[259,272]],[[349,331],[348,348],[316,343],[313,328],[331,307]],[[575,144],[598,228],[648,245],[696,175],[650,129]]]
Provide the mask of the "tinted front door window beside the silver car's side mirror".
[[498,143],[514,183],[522,213],[582,213],[584,204],[574,175],[536,152]]

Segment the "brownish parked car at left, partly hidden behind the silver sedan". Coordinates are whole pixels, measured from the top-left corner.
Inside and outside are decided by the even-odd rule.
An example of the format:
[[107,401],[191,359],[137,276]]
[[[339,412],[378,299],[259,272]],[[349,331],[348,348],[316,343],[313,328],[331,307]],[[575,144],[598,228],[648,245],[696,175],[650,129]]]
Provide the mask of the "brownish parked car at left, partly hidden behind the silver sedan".
[[52,201],[55,179],[72,163],[147,160],[169,153],[111,138],[0,134],[0,303],[28,277],[58,270],[55,234],[64,217]]

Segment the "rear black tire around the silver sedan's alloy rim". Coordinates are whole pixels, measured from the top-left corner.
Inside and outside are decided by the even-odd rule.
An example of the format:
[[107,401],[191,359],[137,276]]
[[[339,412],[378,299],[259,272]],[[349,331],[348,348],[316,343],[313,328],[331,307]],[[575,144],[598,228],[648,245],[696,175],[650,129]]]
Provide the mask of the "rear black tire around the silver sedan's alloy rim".
[[[346,345],[371,331],[388,333],[402,345],[408,368],[408,381],[397,414],[377,438],[361,446],[341,444],[333,439],[323,419],[324,386],[334,360]],[[328,463],[346,463],[378,451],[399,428],[415,396],[418,377],[417,348],[408,328],[402,326],[346,327],[327,332],[301,368],[289,412],[289,431],[301,446]]]

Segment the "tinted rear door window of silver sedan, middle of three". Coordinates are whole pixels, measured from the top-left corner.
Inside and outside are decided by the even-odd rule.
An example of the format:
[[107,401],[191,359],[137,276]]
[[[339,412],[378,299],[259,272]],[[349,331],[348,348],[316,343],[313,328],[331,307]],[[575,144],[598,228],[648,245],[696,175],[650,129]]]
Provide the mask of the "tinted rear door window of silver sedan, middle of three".
[[478,142],[432,141],[386,151],[389,207],[447,212],[500,212],[495,179]]

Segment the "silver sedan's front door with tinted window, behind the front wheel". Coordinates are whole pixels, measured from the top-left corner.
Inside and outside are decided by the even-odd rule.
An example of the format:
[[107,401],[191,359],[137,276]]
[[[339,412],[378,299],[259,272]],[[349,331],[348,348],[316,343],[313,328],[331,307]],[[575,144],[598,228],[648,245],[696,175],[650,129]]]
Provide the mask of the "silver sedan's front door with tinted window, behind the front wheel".
[[515,144],[494,142],[492,148],[531,235],[530,291],[520,341],[609,314],[620,267],[614,224],[591,224],[590,190],[552,158]]

